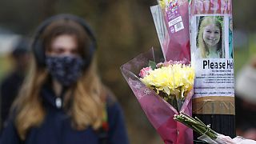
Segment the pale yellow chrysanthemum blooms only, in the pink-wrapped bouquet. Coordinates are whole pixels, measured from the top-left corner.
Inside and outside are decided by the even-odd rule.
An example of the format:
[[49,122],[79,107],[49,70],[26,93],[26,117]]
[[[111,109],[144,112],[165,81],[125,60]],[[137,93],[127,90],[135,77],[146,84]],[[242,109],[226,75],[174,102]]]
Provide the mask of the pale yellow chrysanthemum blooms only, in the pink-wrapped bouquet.
[[186,97],[188,91],[194,86],[194,69],[191,66],[174,64],[163,66],[150,71],[141,81],[156,90],[157,94],[161,91],[168,96],[176,95]]

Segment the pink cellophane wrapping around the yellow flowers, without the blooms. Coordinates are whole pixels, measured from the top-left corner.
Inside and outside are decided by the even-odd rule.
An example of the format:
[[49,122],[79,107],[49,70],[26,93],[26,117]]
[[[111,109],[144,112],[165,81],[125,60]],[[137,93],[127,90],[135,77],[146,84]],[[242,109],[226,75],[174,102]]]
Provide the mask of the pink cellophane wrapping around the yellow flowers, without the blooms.
[[142,110],[164,142],[193,143],[192,130],[174,121],[174,114],[178,114],[178,112],[192,114],[191,97],[193,89],[186,94],[180,110],[176,110],[174,106],[171,106],[160,94],[152,90],[152,87],[146,86],[139,78],[140,70],[147,67],[150,61],[156,63],[164,62],[163,56],[158,57],[152,49],[121,66],[124,78],[126,78],[131,90],[133,90],[134,95],[142,106]]

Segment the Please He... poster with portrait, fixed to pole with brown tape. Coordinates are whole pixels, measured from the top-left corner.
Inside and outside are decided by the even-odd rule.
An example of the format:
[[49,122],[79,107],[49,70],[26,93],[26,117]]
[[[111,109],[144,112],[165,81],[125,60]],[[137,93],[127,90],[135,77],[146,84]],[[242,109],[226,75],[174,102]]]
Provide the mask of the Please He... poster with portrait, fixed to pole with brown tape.
[[232,21],[231,0],[190,2],[195,114],[234,114]]

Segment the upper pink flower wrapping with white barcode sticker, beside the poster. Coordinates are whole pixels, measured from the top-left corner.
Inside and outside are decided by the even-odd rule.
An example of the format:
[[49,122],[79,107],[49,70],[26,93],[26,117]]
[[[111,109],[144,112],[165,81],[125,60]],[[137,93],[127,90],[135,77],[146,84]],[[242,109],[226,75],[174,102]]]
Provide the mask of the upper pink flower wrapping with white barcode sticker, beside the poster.
[[190,61],[190,30],[187,0],[158,0],[150,10],[166,61]]

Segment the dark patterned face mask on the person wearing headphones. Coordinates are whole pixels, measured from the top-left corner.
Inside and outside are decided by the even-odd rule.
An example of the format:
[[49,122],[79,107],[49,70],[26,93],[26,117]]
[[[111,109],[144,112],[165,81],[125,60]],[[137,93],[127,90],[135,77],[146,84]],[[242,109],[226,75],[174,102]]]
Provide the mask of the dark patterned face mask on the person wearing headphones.
[[84,62],[81,57],[46,56],[46,68],[62,86],[70,86],[82,75]]

